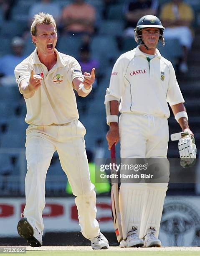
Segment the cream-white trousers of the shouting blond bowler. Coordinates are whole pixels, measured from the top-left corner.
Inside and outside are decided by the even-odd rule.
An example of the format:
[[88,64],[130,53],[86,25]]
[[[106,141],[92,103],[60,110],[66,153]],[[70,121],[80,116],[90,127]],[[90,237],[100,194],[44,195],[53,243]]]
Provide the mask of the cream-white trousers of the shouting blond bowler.
[[29,125],[26,130],[28,171],[25,177],[24,215],[38,230],[44,229],[42,211],[46,203],[45,180],[53,153],[57,151],[73,195],[76,196],[83,236],[89,239],[100,233],[96,220],[96,193],[90,181],[85,150],[85,133],[86,129],[79,120],[66,125]]

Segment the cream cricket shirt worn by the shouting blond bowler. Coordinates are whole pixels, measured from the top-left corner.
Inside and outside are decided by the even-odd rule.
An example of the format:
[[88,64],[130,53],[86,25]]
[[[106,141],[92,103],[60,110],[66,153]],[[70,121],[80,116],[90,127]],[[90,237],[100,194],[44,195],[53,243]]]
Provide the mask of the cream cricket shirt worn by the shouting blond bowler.
[[72,81],[75,77],[83,77],[81,67],[73,57],[56,49],[55,52],[57,62],[49,71],[38,58],[37,49],[15,67],[18,86],[23,79],[30,78],[31,69],[34,70],[34,75],[43,77],[41,87],[35,91],[33,97],[25,99],[26,123],[61,125],[78,119]]

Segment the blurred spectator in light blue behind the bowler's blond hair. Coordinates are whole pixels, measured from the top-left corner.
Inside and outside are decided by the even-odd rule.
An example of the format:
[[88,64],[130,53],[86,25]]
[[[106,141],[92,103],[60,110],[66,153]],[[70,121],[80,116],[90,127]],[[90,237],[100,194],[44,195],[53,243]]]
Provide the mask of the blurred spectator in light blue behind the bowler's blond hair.
[[53,3],[52,0],[41,0],[40,3],[33,3],[29,9],[28,19],[30,25],[33,22],[33,16],[37,13],[49,13],[51,14],[55,20],[57,26],[60,23],[60,16],[61,16],[61,7],[58,3]]

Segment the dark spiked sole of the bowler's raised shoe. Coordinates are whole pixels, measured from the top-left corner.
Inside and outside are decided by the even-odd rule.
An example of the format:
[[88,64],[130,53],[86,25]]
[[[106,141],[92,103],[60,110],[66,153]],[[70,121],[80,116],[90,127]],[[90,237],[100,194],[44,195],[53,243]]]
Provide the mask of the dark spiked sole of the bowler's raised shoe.
[[27,218],[22,218],[18,222],[18,234],[27,240],[31,247],[41,247],[41,243],[33,236],[33,227],[28,222]]

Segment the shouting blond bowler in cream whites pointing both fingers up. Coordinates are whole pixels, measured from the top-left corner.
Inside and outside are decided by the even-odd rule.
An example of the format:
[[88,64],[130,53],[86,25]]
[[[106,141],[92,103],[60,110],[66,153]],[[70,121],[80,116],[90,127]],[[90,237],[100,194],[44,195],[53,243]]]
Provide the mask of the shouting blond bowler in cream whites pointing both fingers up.
[[85,151],[86,129],[78,120],[73,91],[81,97],[89,95],[94,69],[83,75],[76,59],[56,50],[57,29],[52,15],[35,15],[30,31],[35,51],[15,68],[16,82],[27,107],[25,121],[29,124],[25,143],[26,204],[18,233],[30,246],[42,246],[46,173],[57,151],[76,196],[83,236],[91,241],[93,249],[107,249],[109,243],[96,220],[96,193]]

